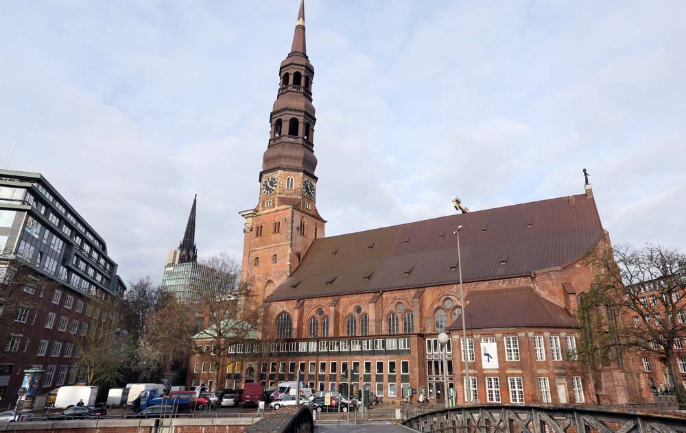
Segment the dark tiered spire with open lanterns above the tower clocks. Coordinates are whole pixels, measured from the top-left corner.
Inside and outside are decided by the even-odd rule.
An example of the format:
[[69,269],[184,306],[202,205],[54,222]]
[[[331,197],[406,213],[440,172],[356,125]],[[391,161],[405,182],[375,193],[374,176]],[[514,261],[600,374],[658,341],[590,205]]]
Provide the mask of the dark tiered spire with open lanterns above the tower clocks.
[[262,172],[277,169],[307,173],[314,179],[314,66],[305,49],[305,2],[300,3],[291,52],[281,62],[279,91],[270,116],[270,140],[262,158]]

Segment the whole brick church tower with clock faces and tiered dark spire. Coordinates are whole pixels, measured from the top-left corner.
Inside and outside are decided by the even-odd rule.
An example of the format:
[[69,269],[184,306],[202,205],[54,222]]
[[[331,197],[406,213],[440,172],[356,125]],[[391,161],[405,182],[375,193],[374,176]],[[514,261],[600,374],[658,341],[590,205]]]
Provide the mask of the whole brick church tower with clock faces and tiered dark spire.
[[259,173],[259,203],[240,212],[246,219],[241,277],[252,281],[260,300],[298,267],[311,243],[324,236],[326,221],[316,208],[313,77],[305,48],[303,0],[291,51],[279,68],[279,90]]

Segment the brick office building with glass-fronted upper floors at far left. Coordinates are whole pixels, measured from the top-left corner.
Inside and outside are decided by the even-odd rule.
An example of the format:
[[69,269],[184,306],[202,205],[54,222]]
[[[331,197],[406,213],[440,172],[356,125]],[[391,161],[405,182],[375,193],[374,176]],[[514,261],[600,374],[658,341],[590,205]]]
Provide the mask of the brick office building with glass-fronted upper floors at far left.
[[84,304],[115,301],[126,285],[102,236],[39,173],[0,170],[0,250],[3,307],[17,306],[3,318],[3,406],[16,401],[26,369],[45,371],[40,392],[75,383],[69,341],[88,320]]

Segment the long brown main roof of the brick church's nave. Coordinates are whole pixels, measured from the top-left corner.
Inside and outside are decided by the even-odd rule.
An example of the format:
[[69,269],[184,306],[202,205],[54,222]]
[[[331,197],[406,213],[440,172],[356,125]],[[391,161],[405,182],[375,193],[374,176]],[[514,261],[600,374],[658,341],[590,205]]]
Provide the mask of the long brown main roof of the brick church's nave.
[[574,195],[318,238],[267,301],[454,284],[458,225],[465,282],[563,267],[604,234],[593,197]]

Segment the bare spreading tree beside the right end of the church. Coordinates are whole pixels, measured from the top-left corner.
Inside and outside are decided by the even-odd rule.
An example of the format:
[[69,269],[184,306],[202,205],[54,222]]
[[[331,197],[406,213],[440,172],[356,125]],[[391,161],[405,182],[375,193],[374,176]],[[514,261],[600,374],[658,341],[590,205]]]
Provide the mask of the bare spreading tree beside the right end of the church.
[[676,396],[686,404],[675,347],[686,337],[683,296],[686,256],[678,249],[628,245],[598,251],[589,259],[599,272],[580,301],[584,338],[579,356],[607,364],[643,351],[665,362]]

